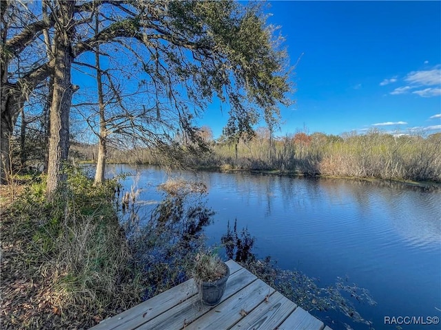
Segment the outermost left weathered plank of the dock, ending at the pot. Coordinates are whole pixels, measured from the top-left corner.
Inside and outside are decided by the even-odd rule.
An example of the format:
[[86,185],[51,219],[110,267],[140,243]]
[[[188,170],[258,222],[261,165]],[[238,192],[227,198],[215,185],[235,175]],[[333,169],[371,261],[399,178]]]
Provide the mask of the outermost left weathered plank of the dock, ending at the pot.
[[121,314],[102,320],[99,325],[92,327],[91,330],[134,329],[137,325],[163,314],[164,311],[178,305],[181,301],[195,296],[197,292],[194,280],[190,279],[162,294],[158,294],[158,296],[145,300],[145,302],[131,309],[127,309],[127,311],[123,311]]

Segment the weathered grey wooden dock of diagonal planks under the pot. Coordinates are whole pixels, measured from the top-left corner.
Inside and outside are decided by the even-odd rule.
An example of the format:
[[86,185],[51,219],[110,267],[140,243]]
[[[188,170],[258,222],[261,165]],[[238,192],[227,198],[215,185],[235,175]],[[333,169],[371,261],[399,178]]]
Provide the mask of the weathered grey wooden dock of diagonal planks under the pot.
[[219,305],[205,306],[193,279],[91,329],[331,330],[234,261]]

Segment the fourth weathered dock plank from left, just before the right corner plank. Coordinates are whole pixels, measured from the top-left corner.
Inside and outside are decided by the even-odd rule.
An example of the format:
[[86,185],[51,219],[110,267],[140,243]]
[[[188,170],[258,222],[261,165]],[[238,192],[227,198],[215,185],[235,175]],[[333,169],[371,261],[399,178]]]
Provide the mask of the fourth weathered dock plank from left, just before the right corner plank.
[[230,330],[268,330],[276,329],[297,305],[291,300],[275,292],[268,297],[268,302],[258,305],[246,318],[240,320]]

